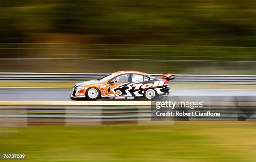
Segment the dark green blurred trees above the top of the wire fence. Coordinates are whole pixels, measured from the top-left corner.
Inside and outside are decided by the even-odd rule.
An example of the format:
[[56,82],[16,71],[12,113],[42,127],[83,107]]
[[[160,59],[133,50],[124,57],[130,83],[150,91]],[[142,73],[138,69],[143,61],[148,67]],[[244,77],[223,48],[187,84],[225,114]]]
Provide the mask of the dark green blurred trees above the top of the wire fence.
[[254,0],[0,1],[0,42],[91,35],[92,43],[255,46]]

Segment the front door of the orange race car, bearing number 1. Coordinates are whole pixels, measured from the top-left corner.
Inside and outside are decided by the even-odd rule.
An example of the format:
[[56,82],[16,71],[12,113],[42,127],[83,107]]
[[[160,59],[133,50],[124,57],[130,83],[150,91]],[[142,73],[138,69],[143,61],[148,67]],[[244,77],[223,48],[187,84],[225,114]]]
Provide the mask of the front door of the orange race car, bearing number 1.
[[128,87],[130,76],[130,74],[121,74],[110,79],[105,88],[106,96],[115,96],[116,99],[125,99],[125,97],[131,96]]

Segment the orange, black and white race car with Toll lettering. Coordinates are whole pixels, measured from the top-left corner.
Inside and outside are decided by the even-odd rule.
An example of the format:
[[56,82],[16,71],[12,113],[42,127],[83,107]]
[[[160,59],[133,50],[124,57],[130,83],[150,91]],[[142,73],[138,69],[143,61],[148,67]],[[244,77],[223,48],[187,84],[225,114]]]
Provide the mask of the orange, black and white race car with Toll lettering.
[[163,76],[164,78],[155,78],[140,71],[117,71],[97,80],[76,84],[70,97],[90,100],[99,97],[154,100],[157,96],[164,97],[169,94],[169,80],[174,79],[174,75],[164,73]]

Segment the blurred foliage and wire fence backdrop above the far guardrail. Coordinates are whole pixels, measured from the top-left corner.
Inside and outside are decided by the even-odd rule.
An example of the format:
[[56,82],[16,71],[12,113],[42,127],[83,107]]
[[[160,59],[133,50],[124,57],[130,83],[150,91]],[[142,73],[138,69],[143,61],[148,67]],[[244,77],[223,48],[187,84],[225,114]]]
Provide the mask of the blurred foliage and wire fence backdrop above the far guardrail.
[[[256,48],[253,48],[256,47],[255,19],[254,0],[0,1],[0,43],[106,44],[86,47],[1,44],[0,71],[110,73],[146,70],[148,73],[254,74],[254,62],[207,61],[256,61]],[[183,62],[156,61],[153,68],[152,62],[145,61],[123,61],[118,65],[91,60],[84,67],[79,61],[39,63],[6,61],[6,58],[131,58]]]

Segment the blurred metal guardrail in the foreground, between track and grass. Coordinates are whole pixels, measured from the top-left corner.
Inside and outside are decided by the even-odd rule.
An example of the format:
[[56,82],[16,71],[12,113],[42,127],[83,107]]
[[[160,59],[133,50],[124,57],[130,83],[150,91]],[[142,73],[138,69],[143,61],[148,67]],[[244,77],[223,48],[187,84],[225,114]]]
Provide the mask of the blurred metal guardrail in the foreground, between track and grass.
[[[151,106],[135,105],[137,102],[120,101],[103,102],[92,101],[91,103],[79,102],[80,105],[58,105],[55,101],[49,105],[42,105],[48,101],[27,101],[13,103],[13,105],[0,103],[0,127],[27,126],[35,124],[62,124],[62,125],[91,125],[104,124],[104,122],[143,122],[151,120]],[[93,104],[95,102],[96,104]],[[150,103],[150,102],[149,102]],[[249,103],[249,104],[248,104]],[[40,105],[38,105],[40,104]],[[66,103],[67,104],[67,103]],[[145,103],[144,103],[145,104]],[[216,111],[220,116],[186,116],[170,117],[167,120],[256,120],[256,102],[209,102],[200,109],[186,109],[192,111]],[[232,106],[233,105],[233,106]],[[183,108],[175,108],[175,111],[184,111]],[[166,119],[165,119],[166,120]]]

